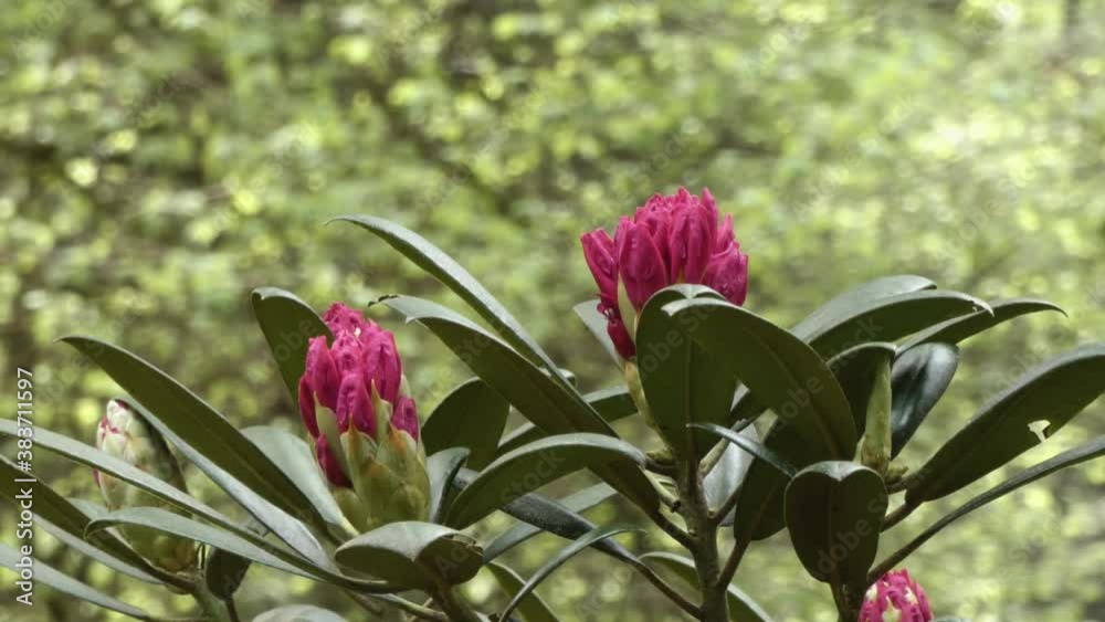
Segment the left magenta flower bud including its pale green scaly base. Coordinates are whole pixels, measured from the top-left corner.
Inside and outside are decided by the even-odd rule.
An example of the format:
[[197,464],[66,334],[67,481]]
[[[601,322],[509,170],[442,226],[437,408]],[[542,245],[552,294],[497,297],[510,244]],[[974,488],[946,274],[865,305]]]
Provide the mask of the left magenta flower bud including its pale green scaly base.
[[299,411],[319,468],[362,530],[428,519],[425,447],[394,335],[340,303],[323,319],[334,341],[312,339],[299,380]]

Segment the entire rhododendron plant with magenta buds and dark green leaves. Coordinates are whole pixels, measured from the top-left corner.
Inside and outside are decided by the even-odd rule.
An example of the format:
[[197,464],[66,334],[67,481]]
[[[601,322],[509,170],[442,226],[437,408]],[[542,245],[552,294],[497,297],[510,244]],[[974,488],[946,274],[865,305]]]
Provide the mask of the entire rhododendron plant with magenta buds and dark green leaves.
[[[534,589],[587,550],[640,574],[644,581],[633,589],[655,590],[688,620],[768,622],[756,594],[736,589],[737,570],[751,547],[782,530],[804,571],[824,583],[825,608],[841,622],[927,622],[934,611],[951,614],[955,603],[939,593],[929,601],[895,570],[906,558],[927,555],[925,542],[975,509],[1105,454],[1105,437],[1094,439],[971,499],[958,497],[1050,444],[1105,391],[1102,344],[1028,370],[935,451],[903,453],[953,382],[961,345],[1054,305],[988,304],[896,275],[780,325],[747,298],[748,257],[733,215],[720,214],[708,190],[656,194],[630,211],[612,238],[601,229],[583,233],[576,265],[598,286],[598,301],[576,310],[621,372],[612,386],[562,368],[472,274],[418,233],[376,217],[343,217],[465,307],[402,295],[308,303],[256,289],[253,312],[287,401],[265,413],[270,424],[245,430],[235,426],[236,413],[220,413],[139,356],[92,337],[63,338],[128,397],[108,405],[96,449],[42,430],[34,437],[39,450],[94,468],[107,508],[70,502],[39,483],[35,513],[83,552],[193,595],[196,616],[220,622],[243,619],[235,591],[253,563],[346,592],[372,615],[388,609],[434,622],[557,620]],[[356,253],[364,240],[346,229]],[[440,339],[473,376],[421,413],[391,331],[400,319]],[[406,373],[418,387],[441,380],[415,368]],[[623,437],[625,430],[632,433]],[[0,432],[18,434],[13,425]],[[191,465],[186,471],[178,455]],[[21,476],[11,463],[0,465],[7,481]],[[189,494],[183,473],[225,493],[218,509]],[[550,496],[569,475],[567,482],[588,487]],[[561,486],[547,487],[554,482]],[[15,500],[18,489],[3,489]],[[965,503],[888,549],[884,533],[916,524],[918,508],[951,495]],[[652,537],[631,547],[614,538],[632,525],[596,525],[580,514],[613,500],[622,519]],[[518,524],[504,526],[495,515]],[[567,542],[520,579],[503,554],[539,533]],[[482,569],[503,598],[459,589]],[[61,572],[38,577],[154,619]],[[314,605],[257,613],[340,619]]]

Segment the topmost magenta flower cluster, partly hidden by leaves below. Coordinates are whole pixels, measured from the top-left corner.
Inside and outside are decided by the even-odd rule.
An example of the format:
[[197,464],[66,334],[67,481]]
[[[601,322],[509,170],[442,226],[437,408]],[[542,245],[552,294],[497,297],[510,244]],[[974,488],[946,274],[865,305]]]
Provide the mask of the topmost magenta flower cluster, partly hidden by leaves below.
[[[735,305],[748,294],[748,256],[708,189],[702,198],[680,188],[654,194],[632,218],[622,217],[613,240],[601,229],[580,236],[599,287],[599,313],[625,359],[635,356],[636,315],[653,294],[676,283],[706,285]],[[632,307],[632,308],[628,308]]]

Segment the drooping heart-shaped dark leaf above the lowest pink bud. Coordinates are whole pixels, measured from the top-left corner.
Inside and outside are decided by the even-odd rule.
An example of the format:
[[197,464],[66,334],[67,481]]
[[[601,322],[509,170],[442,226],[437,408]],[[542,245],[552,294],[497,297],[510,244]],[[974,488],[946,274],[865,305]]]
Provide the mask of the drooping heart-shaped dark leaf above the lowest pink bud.
[[819,462],[787,486],[787,528],[806,571],[832,586],[865,586],[886,514],[883,478],[852,462]]

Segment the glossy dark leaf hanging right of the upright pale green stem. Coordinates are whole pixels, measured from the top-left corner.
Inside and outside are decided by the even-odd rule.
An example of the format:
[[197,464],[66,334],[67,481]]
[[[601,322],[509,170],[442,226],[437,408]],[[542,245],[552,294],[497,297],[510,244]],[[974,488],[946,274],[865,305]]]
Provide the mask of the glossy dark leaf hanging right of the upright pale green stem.
[[923,344],[903,351],[891,376],[891,441],[896,456],[944,397],[959,367],[959,348]]

